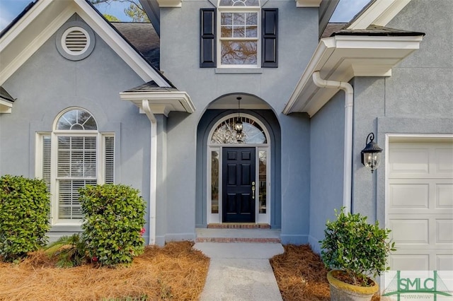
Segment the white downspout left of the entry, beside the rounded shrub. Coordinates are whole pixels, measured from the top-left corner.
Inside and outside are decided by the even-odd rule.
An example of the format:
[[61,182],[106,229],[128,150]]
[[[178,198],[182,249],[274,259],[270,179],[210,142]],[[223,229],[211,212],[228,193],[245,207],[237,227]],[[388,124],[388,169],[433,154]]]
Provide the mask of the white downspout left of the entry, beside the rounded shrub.
[[149,166],[149,244],[156,244],[156,175],[157,175],[157,119],[149,107],[148,100],[142,100],[142,109],[151,122],[151,146]]

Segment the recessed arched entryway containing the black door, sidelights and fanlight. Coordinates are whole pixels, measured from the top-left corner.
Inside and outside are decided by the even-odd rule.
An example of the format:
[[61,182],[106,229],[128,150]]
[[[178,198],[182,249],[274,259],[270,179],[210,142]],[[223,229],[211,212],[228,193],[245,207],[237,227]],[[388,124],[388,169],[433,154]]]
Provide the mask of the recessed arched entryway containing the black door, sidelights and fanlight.
[[[219,100],[223,105],[222,98]],[[263,102],[259,98],[254,101]],[[240,139],[235,131],[237,109],[208,109],[200,119],[197,228],[217,223],[257,223],[280,228],[280,124],[273,110],[265,105],[267,110],[263,105],[250,110],[246,104],[241,109]]]

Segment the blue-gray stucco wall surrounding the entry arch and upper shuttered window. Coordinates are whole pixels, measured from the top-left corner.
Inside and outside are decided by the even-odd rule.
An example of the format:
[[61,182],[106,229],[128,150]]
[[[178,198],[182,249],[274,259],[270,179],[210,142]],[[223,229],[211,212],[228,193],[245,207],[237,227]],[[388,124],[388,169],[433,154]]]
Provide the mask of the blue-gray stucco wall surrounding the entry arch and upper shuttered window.
[[281,164],[282,175],[276,180],[282,187],[282,240],[307,241],[309,119],[304,114],[285,116],[281,112],[318,43],[319,19],[316,8],[295,6],[289,0],[265,4],[279,8],[278,68],[227,74],[199,68],[200,8],[214,7],[210,1],[189,0],[181,8],[161,8],[161,69],[179,90],[188,92],[197,109],[189,116],[172,113],[168,117],[168,179],[178,183],[178,189],[168,189],[168,212],[171,208],[173,213],[168,233],[185,237],[195,230],[195,167],[202,164],[196,160],[196,129],[202,114],[222,95],[246,93],[267,102],[280,123],[282,159],[277,164]]

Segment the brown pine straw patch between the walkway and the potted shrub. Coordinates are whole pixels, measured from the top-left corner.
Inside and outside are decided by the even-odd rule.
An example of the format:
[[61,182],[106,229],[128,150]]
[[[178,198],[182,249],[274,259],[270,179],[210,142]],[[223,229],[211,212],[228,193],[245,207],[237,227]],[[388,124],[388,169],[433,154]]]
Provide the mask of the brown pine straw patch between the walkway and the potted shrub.
[[[278,288],[285,301],[327,301],[331,300],[326,278],[327,270],[319,254],[309,244],[283,246],[285,253],[270,259]],[[374,295],[372,301],[378,301]]]

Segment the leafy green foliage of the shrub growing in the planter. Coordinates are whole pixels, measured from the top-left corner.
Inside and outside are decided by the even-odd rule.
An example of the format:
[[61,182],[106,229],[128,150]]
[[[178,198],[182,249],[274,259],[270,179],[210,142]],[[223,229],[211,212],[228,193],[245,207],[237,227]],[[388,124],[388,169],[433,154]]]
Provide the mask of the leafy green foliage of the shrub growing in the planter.
[[390,243],[389,229],[379,228],[379,222],[367,223],[360,213],[335,211],[337,220],[327,221],[324,240],[321,240],[321,259],[327,268],[348,273],[355,285],[366,286],[367,275],[374,277],[386,271],[386,259],[395,251]]

